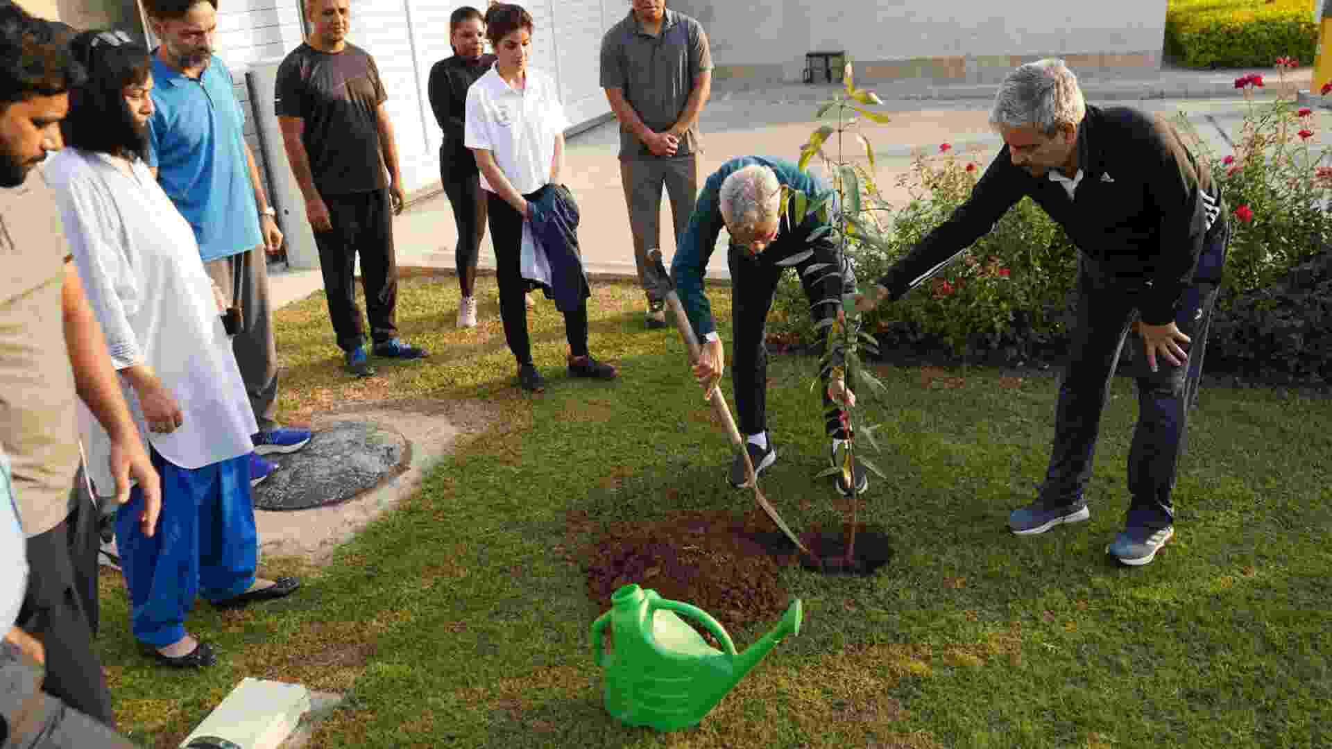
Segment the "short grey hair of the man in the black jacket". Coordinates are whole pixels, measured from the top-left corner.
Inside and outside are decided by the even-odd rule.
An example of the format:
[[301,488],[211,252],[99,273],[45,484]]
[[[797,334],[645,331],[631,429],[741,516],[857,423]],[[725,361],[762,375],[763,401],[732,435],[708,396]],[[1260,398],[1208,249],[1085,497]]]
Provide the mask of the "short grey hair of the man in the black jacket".
[[1022,128],[1035,125],[1047,136],[1063,125],[1076,125],[1087,115],[1078,76],[1063,60],[1048,57],[1018,67],[999,84],[992,127]]

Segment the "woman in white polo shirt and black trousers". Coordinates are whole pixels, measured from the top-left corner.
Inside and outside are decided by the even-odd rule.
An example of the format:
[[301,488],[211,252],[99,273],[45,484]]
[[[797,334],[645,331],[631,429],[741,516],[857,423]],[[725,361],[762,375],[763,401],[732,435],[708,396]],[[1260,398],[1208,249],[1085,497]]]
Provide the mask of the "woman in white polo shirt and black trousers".
[[[505,340],[518,360],[518,382],[541,392],[546,382],[531,361],[527,337],[522,225],[531,217],[527,203],[538,201],[559,180],[569,121],[555,83],[527,68],[531,15],[519,5],[498,4],[486,11],[485,20],[496,64],[468,89],[464,144],[476,155],[486,191]],[[569,374],[613,380],[615,368],[587,353],[586,300],[563,315]]]

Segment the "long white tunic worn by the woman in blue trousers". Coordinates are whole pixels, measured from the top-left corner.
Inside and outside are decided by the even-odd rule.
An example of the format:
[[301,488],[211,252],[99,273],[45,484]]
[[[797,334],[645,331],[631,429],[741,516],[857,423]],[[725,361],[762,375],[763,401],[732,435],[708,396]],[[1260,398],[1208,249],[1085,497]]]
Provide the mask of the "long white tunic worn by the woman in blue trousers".
[[[84,292],[116,369],[147,364],[180,404],[181,426],[151,432],[133,386],[121,378],[145,444],[186,469],[240,457],[254,449],[258,426],[194,231],[141,160],[132,171],[75,148],[48,159],[47,181]],[[97,493],[113,494],[111,438],[85,406],[80,430]]]

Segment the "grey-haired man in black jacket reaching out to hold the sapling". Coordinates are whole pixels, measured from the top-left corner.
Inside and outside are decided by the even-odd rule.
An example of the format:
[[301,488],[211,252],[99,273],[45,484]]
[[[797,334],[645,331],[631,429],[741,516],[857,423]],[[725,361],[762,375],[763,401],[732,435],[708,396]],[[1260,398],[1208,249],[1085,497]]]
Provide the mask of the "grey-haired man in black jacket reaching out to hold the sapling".
[[1004,147],[971,197],[879,280],[872,309],[900,299],[991,231],[1030,196],[1082,252],[1078,316],[1059,389],[1055,444],[1036,500],[1008,517],[1018,534],[1087,520],[1083,490],[1111,376],[1135,312],[1138,426],[1128,456],[1126,528],[1106,552],[1146,565],[1173,536],[1171,490],[1188,404],[1229,231],[1219,188],[1163,119],[1128,107],[1087,107],[1063,60],[1008,73],[990,123]]

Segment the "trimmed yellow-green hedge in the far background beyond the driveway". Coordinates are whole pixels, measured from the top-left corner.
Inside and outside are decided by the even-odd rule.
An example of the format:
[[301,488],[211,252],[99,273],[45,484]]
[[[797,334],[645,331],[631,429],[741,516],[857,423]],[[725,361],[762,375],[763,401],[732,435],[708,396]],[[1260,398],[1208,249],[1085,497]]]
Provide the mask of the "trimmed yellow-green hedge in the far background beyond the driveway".
[[1189,68],[1313,63],[1319,29],[1309,0],[1169,0],[1166,52]]

